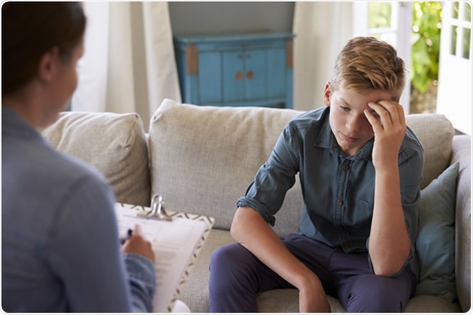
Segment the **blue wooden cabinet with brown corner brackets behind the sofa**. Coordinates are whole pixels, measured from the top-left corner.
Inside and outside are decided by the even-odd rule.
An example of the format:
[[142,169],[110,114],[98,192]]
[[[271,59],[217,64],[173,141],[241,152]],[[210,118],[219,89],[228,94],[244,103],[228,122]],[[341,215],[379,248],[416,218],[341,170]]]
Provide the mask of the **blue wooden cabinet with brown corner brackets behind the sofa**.
[[183,102],[292,108],[294,34],[174,36]]

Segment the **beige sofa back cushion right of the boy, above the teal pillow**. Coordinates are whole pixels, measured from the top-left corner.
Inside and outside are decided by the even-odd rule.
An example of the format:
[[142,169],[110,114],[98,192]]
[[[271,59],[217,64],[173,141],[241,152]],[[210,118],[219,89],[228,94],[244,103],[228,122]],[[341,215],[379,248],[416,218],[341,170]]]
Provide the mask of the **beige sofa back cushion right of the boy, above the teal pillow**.
[[424,147],[424,176],[420,183],[424,189],[447,168],[455,130],[443,114],[410,114],[406,116],[406,124]]

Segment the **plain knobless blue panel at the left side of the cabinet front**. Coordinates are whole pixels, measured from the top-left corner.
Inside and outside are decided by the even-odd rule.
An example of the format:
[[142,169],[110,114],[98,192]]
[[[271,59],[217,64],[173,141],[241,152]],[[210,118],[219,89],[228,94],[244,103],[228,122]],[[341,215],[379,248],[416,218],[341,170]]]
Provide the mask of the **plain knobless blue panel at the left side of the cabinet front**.
[[198,67],[199,105],[221,102],[222,82],[220,76],[220,53],[200,53]]

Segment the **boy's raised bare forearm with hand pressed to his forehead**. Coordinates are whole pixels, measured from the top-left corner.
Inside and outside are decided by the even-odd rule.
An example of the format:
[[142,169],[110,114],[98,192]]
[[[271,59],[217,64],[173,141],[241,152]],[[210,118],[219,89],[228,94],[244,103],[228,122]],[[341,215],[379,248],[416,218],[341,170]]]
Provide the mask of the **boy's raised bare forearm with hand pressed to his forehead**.
[[369,103],[379,119],[365,111],[375,132],[375,204],[368,251],[375,274],[399,272],[410,253],[410,239],[401,203],[398,156],[406,135],[403,107],[393,101]]

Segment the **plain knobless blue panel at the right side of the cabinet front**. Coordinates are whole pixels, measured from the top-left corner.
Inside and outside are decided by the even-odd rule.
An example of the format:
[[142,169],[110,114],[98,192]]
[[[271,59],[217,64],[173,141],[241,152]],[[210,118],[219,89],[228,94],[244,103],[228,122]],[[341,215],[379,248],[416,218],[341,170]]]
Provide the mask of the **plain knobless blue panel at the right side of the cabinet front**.
[[268,50],[268,98],[283,98],[286,91],[285,48]]

